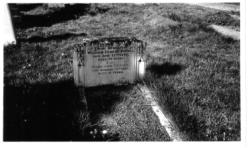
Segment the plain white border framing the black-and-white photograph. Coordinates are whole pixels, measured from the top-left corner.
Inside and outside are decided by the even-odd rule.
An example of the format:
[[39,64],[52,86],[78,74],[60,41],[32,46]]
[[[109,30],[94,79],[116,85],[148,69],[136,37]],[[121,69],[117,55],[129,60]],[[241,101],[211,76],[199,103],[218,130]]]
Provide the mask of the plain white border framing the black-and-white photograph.
[[[4,147],[225,147],[225,148],[245,148],[248,147],[247,136],[247,107],[248,107],[248,49],[247,49],[247,2],[245,0],[2,0],[1,6],[5,3],[220,3],[220,2],[240,2],[240,20],[241,20],[241,49],[240,49],[240,85],[241,85],[241,141],[237,142],[3,142],[3,44],[4,34],[0,35],[1,51],[0,51],[0,146]],[[3,9],[1,9],[2,11]],[[1,13],[2,17],[2,13]],[[2,24],[1,24],[2,25]],[[1,30],[2,31],[2,30]]]

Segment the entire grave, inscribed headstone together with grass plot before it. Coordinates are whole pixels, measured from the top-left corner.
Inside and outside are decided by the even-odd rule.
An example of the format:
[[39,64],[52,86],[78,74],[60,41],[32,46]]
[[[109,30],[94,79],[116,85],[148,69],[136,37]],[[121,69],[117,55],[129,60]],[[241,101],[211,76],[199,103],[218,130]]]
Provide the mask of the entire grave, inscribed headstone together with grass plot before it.
[[79,122],[86,139],[172,138],[153,112],[150,100],[139,90],[143,86],[135,84],[145,74],[145,43],[128,37],[84,39],[74,50],[74,82],[84,104],[79,121],[91,122],[90,125]]

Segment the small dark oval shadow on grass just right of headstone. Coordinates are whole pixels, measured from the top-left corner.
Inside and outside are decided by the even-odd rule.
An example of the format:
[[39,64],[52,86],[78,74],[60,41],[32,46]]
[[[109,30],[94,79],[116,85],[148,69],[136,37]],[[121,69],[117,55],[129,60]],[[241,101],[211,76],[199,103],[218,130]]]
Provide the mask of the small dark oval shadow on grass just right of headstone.
[[151,64],[147,70],[155,73],[157,76],[161,77],[163,75],[175,75],[183,70],[184,67],[179,64],[163,63],[163,64]]

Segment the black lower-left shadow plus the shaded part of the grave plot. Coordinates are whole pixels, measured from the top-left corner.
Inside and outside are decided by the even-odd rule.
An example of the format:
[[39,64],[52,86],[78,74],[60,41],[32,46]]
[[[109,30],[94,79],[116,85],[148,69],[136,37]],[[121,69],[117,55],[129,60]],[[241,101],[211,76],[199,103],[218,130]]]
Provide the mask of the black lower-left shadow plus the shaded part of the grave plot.
[[[102,114],[112,111],[115,103],[121,100],[121,91],[130,86],[87,88],[85,95],[90,121],[79,123],[79,112],[84,112],[85,106],[73,81],[21,86],[11,86],[6,82],[4,141],[119,140],[118,135],[103,135],[103,127],[99,127],[97,121]],[[92,131],[98,133],[91,134]]]

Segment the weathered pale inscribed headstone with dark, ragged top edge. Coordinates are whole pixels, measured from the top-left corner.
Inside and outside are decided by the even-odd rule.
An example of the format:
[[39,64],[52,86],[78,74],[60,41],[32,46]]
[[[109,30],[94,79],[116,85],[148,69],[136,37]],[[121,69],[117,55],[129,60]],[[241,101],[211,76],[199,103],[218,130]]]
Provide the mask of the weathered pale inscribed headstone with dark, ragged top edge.
[[144,43],[136,38],[85,39],[74,46],[77,86],[134,83],[145,74]]

